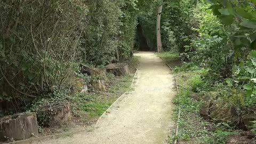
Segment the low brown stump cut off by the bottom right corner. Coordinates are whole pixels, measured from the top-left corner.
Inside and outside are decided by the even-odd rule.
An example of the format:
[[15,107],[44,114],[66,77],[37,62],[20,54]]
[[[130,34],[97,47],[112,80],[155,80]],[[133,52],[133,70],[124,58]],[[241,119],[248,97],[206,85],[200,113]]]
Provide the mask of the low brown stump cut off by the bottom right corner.
[[250,131],[242,132],[239,135],[232,135],[226,141],[227,144],[256,144],[254,135]]

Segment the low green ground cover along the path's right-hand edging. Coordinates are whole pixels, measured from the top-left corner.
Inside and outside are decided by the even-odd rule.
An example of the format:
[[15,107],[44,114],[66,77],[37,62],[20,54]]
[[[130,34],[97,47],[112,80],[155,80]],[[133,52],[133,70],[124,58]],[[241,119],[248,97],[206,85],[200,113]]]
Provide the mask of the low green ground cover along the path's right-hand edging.
[[[163,55],[158,56],[162,57]],[[162,58],[166,62],[173,60],[172,55],[167,57],[165,55]],[[168,58],[170,59],[168,60]],[[179,84],[179,94],[173,100],[176,106],[173,121],[177,121],[179,108],[181,115],[178,121],[178,137],[170,137],[169,143],[178,139],[179,143],[219,144],[225,143],[230,135],[237,134],[234,127],[227,123],[206,121],[199,114],[204,94],[220,89],[211,83],[211,79],[208,78],[208,69],[199,68],[193,63],[183,63],[173,71]]]

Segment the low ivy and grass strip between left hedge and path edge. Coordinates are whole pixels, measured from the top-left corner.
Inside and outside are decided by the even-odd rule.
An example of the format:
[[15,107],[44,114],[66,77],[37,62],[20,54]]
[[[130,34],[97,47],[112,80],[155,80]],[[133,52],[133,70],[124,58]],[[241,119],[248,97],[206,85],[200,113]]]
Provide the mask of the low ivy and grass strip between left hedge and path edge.
[[[133,57],[132,60],[126,62],[129,64],[131,74],[120,77],[107,74],[105,77],[106,91],[97,91],[88,85],[89,90],[87,92],[77,92],[74,94],[55,92],[47,97],[35,99],[33,105],[28,107],[28,111],[37,113],[40,132],[44,133],[44,127],[52,127],[53,117],[61,110],[67,108],[67,106],[70,107],[71,114],[73,115],[72,120],[78,121],[78,123],[76,122],[77,125],[94,123],[119,96],[132,90],[131,83],[135,70],[139,65],[139,57]],[[89,76],[82,78],[86,78],[86,82],[88,79],[93,79]],[[65,125],[67,127],[69,124]],[[67,129],[65,125],[57,129]]]

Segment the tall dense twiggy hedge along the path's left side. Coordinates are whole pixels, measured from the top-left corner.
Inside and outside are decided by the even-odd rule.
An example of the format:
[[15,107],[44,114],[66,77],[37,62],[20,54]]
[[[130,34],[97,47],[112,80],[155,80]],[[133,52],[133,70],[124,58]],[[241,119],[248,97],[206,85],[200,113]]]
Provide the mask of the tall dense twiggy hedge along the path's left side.
[[80,63],[129,59],[137,18],[154,3],[0,1],[0,99],[19,107],[55,91],[68,93]]

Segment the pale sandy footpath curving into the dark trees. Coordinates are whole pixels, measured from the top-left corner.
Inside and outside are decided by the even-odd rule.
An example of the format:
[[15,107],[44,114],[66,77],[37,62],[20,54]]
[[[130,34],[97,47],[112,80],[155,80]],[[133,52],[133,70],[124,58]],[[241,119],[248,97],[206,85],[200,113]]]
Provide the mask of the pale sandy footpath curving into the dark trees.
[[91,132],[41,143],[165,143],[169,130],[174,129],[174,77],[153,52],[135,55],[141,58],[134,90],[122,95]]

